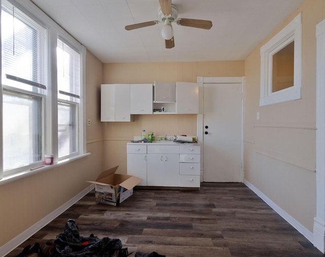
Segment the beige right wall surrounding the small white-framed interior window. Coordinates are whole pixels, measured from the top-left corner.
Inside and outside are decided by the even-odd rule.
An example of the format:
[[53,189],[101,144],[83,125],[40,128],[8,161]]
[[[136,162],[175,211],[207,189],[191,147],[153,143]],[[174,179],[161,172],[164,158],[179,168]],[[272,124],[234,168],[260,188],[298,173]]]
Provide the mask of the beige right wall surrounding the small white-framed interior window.
[[[324,0],[305,1],[245,61],[245,179],[311,232],[316,208],[315,28],[325,18],[324,7]],[[302,99],[259,107],[259,49],[300,12]]]

